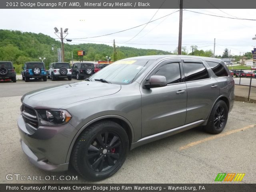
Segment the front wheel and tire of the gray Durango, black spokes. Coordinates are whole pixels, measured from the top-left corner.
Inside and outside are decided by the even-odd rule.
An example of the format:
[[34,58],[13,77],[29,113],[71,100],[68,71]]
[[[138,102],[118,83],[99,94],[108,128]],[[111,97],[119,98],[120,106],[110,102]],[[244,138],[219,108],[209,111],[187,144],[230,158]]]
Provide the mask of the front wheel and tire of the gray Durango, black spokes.
[[84,178],[102,180],[121,168],[128,149],[128,136],[122,126],[103,120],[80,134],[72,151],[72,165]]

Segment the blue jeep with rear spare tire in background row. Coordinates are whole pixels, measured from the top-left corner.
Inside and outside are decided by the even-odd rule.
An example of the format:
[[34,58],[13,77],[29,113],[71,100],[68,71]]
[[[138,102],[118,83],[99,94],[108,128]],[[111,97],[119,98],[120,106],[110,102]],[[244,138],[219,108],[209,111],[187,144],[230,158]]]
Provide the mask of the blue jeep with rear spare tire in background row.
[[22,69],[22,80],[25,82],[28,82],[30,78],[47,81],[47,70],[44,62],[26,62]]

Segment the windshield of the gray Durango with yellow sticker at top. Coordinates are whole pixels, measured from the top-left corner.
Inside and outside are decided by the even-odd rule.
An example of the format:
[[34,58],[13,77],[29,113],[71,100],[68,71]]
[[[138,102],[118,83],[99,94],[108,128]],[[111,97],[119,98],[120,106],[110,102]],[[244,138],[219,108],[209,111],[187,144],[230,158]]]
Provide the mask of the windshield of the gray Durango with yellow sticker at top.
[[113,84],[131,84],[145,70],[148,60],[120,60],[104,67],[89,80],[103,79]]

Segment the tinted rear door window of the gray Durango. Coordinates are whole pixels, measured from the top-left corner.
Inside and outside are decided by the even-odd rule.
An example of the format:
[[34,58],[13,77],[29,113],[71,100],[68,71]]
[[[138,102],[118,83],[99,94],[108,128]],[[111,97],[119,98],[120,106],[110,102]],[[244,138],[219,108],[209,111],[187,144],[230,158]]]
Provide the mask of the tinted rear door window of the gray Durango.
[[208,71],[202,63],[184,63],[185,81],[209,78]]

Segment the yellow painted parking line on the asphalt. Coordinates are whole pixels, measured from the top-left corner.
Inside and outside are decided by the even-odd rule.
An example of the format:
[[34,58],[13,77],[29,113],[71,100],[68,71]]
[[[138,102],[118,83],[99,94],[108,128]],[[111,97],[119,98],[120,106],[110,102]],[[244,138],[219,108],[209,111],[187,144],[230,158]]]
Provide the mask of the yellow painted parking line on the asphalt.
[[179,150],[184,150],[184,149],[186,149],[186,148],[189,148],[189,147],[198,145],[198,144],[203,143],[203,142],[206,142],[206,141],[210,141],[210,140],[213,140],[213,139],[216,139],[216,138],[224,137],[224,136],[226,136],[226,135],[230,135],[230,134],[233,134],[233,133],[236,133],[236,132],[239,132],[239,131],[243,131],[243,130],[246,130],[246,129],[248,129],[248,128],[253,128],[254,126],[256,126],[256,125],[248,125],[248,126],[246,126],[246,127],[244,127],[244,128],[241,128],[241,129],[236,129],[236,130],[228,131],[228,132],[226,132],[226,133],[214,135],[214,136],[212,136],[212,137],[204,138],[204,139],[202,139],[202,140],[199,140],[199,141],[195,141],[195,142],[186,144],[185,146],[180,147]]

